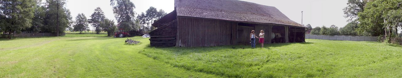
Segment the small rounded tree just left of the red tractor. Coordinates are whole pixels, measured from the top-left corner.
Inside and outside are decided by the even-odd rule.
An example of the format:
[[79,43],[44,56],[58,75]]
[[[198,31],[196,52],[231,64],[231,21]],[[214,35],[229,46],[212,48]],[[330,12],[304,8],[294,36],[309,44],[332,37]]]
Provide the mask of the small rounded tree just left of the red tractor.
[[100,28],[107,32],[107,36],[110,36],[110,33],[116,30],[116,25],[113,20],[105,19],[100,22]]

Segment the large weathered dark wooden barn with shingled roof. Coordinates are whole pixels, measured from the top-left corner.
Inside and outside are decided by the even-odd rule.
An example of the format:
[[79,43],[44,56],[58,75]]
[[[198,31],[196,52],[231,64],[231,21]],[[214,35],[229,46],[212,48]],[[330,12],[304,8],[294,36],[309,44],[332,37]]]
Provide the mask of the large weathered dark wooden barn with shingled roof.
[[266,44],[304,42],[306,34],[277,8],[239,0],[174,0],[174,11],[152,26],[151,46],[250,45],[251,30],[264,30]]

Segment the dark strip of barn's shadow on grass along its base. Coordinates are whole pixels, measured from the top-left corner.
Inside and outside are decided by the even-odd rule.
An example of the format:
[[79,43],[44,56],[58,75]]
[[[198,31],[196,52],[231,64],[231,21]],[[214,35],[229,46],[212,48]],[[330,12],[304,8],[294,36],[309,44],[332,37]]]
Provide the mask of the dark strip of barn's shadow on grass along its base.
[[256,45],[256,48],[251,48],[251,45],[230,45],[230,46],[210,46],[210,47],[154,47],[148,45],[144,50],[159,50],[164,52],[174,52],[178,55],[187,55],[191,53],[207,53],[213,51],[227,51],[227,52],[242,52],[242,51],[254,51],[253,49],[270,49],[272,47],[281,47],[292,44],[314,44],[312,42],[302,43],[275,43],[264,44],[264,48],[261,48],[260,44]]

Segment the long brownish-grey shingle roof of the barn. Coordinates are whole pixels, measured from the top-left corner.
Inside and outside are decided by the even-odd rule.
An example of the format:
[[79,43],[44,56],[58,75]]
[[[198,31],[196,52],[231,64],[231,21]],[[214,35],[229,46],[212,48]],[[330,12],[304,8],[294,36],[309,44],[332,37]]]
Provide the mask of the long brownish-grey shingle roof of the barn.
[[174,0],[177,16],[304,27],[273,6],[239,0]]

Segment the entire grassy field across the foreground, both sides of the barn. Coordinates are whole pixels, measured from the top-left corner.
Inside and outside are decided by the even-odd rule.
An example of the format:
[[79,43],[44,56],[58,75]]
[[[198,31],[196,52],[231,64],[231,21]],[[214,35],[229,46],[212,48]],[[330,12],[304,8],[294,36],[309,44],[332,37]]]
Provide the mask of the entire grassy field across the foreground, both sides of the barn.
[[143,42],[134,46],[124,45],[125,39],[71,34],[0,39],[0,78],[402,77],[402,46],[394,44],[306,40],[255,49],[160,48],[149,46],[149,38],[131,38]]

